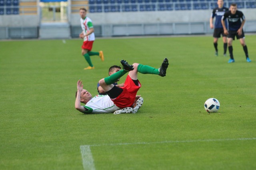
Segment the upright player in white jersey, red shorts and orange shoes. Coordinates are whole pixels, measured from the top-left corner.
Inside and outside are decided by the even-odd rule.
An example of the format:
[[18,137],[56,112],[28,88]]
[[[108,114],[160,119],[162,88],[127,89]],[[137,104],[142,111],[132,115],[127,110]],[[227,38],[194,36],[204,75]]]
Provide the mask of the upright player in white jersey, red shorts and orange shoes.
[[88,67],[84,68],[84,70],[87,69],[94,69],[94,66],[92,64],[92,61],[90,59],[90,56],[92,55],[98,55],[102,61],[104,61],[103,52],[93,52],[92,50],[92,44],[95,40],[94,35],[94,28],[92,25],[92,20],[86,16],[86,9],[80,8],[79,10],[80,14],[80,22],[82,27],[82,33],[79,34],[79,37],[84,39],[84,43],[82,45],[82,55],[86,59],[87,63],[89,64]]

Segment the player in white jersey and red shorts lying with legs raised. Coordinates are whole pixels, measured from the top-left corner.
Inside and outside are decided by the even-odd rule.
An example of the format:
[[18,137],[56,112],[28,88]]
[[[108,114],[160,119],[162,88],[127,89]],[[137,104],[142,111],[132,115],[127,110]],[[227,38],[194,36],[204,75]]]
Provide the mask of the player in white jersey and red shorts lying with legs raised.
[[[97,95],[92,98],[92,95],[83,89],[82,81],[78,80],[75,102],[75,108],[78,111],[82,113],[136,113],[143,103],[143,98],[139,98],[136,102],[137,105],[132,108],[136,100],[136,94],[141,87],[138,80],[138,72],[156,74],[163,77],[166,76],[166,70],[169,65],[168,59],[164,59],[159,69],[138,63],[129,65],[124,60],[121,61],[121,64],[123,65],[123,70],[99,81],[100,86],[102,86],[107,95]],[[127,72],[129,73],[124,82],[124,87],[117,87],[112,84]],[[80,102],[84,103],[85,106],[81,106]]]

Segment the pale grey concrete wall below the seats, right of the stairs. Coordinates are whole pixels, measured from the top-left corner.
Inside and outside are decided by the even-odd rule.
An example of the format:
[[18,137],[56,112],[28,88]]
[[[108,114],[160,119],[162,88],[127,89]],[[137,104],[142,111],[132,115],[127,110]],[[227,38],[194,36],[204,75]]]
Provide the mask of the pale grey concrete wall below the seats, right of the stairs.
[[[241,9],[246,20],[256,20],[256,9]],[[108,12],[88,13],[94,25],[133,23],[204,22],[210,20],[212,10],[156,11],[156,12]],[[79,14],[72,14],[71,25],[80,25]]]

